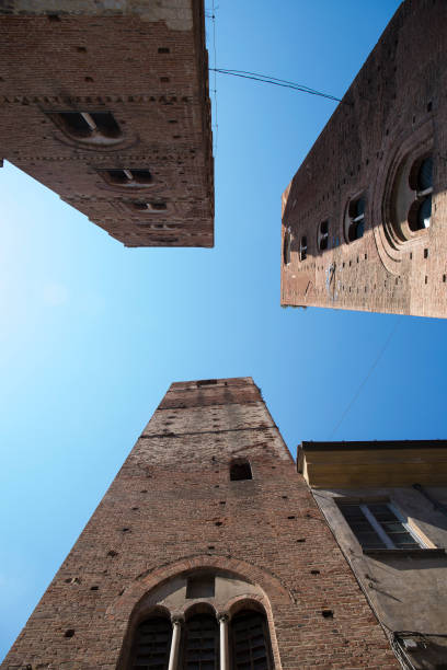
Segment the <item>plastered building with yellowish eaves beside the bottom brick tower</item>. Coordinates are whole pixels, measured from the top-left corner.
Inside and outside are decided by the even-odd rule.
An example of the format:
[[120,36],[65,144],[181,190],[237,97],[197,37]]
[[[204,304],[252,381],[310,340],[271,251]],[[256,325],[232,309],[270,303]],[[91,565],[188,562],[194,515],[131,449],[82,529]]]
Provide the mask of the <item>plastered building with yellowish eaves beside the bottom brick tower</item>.
[[406,670],[447,667],[447,441],[302,442],[298,472]]

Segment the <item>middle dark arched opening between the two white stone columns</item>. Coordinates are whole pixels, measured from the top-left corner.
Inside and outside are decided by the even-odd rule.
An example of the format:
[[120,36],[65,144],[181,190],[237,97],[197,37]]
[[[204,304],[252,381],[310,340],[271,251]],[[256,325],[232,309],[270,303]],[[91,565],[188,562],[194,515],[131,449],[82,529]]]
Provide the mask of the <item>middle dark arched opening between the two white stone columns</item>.
[[182,670],[218,670],[219,626],[213,614],[195,614],[183,631]]

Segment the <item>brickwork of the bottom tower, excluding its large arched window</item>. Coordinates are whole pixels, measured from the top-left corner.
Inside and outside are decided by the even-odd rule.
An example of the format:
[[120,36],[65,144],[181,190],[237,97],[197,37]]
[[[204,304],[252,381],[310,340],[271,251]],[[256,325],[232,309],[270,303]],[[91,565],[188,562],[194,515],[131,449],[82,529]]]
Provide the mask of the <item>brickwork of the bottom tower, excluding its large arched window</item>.
[[137,603],[204,567],[265,593],[275,668],[398,667],[257,388],[208,382],[172,384],[2,669],[126,668]]

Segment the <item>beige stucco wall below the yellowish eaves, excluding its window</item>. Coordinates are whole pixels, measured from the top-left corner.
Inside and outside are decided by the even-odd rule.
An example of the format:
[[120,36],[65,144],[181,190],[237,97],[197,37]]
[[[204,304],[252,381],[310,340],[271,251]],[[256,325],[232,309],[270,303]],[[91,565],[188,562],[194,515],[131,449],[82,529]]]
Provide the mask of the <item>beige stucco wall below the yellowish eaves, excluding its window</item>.
[[[426,487],[436,500],[447,500],[446,487]],[[419,555],[402,551],[388,555],[365,555],[340,511],[336,500],[389,499],[432,548],[447,547],[447,516],[420,492],[406,488],[367,488],[313,490],[342,551],[388,632],[412,631],[425,635],[447,634],[447,554],[431,552]],[[445,647],[447,638],[436,638]],[[444,654],[442,651],[442,654]],[[417,666],[419,667],[419,666]],[[425,667],[425,666],[424,666]],[[432,666],[427,666],[432,667]],[[435,667],[435,666],[433,666]]]

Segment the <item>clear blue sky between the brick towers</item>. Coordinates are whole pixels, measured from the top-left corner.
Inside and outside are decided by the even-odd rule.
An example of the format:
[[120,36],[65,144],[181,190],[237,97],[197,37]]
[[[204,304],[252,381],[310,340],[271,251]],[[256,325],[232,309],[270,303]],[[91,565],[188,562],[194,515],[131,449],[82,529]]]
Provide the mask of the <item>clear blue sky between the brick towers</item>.
[[[336,96],[399,4],[215,1],[219,67]],[[335,104],[217,76],[214,250],[126,250],[0,171],[0,658],[172,381],[252,376],[293,453],[446,437],[444,321],[279,307],[280,194]]]

